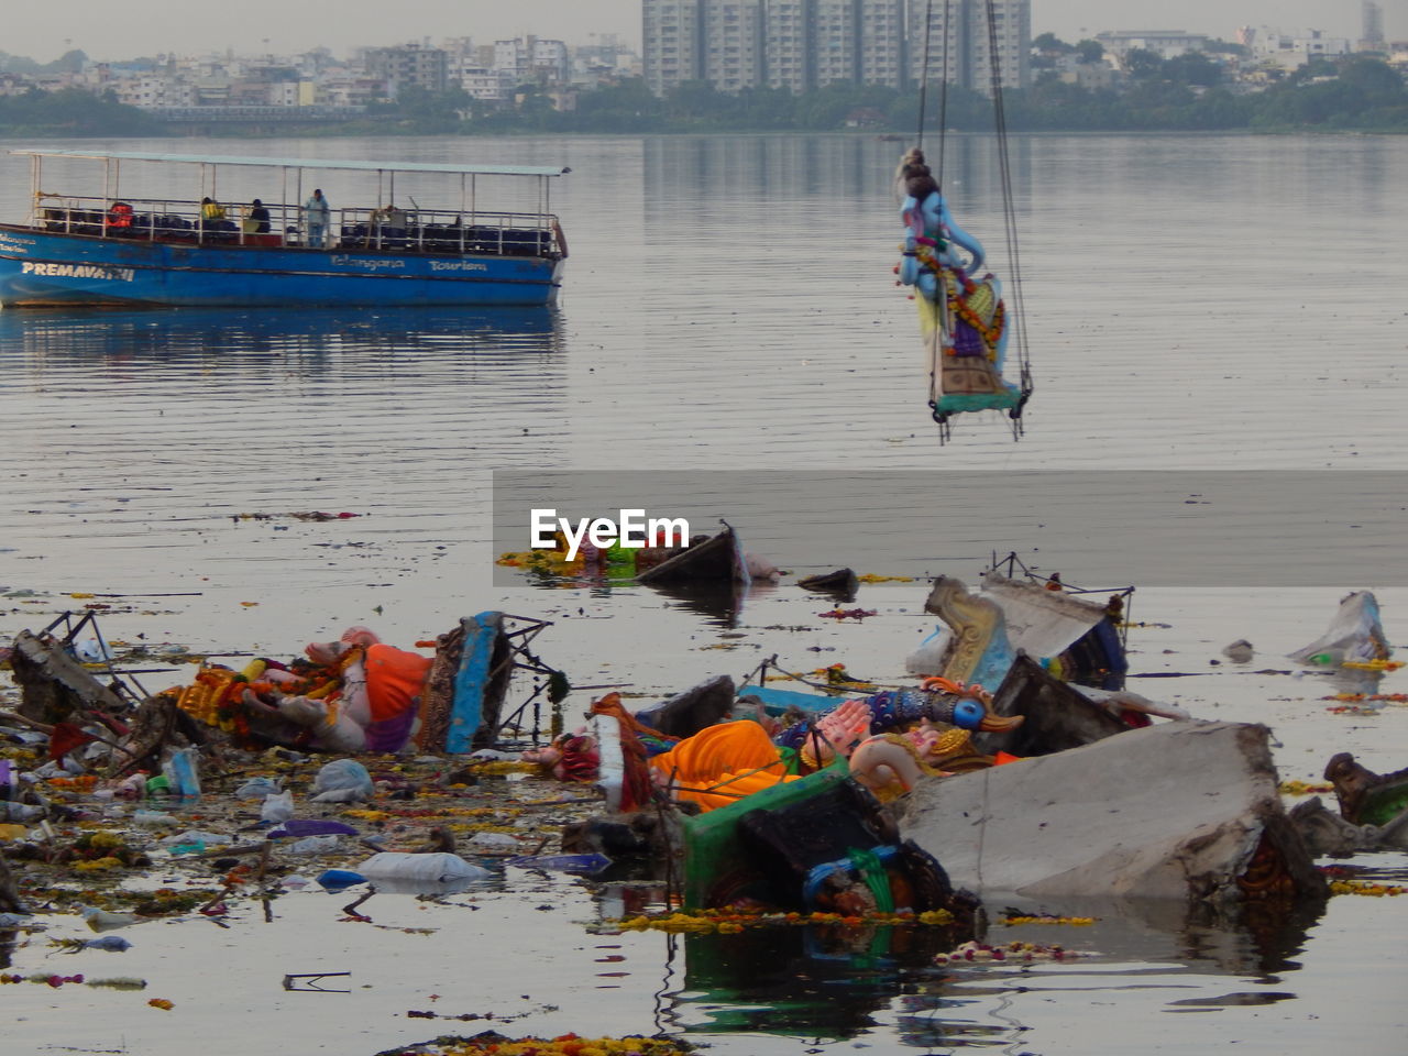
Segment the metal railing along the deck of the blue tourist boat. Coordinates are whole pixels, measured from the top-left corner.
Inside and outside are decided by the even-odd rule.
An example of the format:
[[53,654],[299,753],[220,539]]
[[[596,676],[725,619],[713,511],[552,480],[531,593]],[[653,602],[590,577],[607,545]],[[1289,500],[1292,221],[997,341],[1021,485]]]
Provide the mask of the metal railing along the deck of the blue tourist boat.
[[266,220],[251,215],[253,203],[222,203],[214,215],[201,203],[189,200],[41,194],[35,199],[31,225],[69,235],[196,245],[563,255],[558,218],[546,213],[331,208],[328,222],[317,232],[310,230],[306,210],[297,204],[265,203],[263,208]]

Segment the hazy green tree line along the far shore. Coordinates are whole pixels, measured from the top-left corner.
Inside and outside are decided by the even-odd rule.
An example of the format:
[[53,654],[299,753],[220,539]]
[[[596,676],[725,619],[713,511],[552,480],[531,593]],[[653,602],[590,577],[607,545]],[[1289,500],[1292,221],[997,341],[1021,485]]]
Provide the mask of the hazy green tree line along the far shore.
[[[1260,92],[1238,92],[1224,68],[1190,54],[1159,59],[1133,52],[1119,90],[1086,89],[1041,76],[1002,94],[1010,131],[1373,131],[1408,132],[1408,87],[1388,63],[1366,56],[1312,61]],[[928,93],[926,121],[957,131],[993,128],[993,101],[950,86]],[[781,132],[863,128],[905,132],[919,120],[919,93],[876,84],[828,84],[794,94],[783,89],[722,93],[687,83],[653,96],[641,79],[577,93],[576,107],[556,110],[552,96],[524,86],[513,108],[472,99],[460,89],[404,89],[355,120],[328,122],[329,135],[365,134],[572,134],[572,132]],[[161,121],[99,97],[66,89],[0,97],[0,132],[56,135],[159,135]]]

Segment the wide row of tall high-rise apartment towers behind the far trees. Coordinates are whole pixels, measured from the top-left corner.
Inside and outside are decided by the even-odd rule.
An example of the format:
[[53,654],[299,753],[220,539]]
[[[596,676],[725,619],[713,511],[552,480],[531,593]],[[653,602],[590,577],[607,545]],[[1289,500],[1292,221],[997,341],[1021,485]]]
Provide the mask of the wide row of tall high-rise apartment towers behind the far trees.
[[[995,41],[1005,87],[1029,77],[1031,0],[642,0],[645,79],[656,94],[705,80],[721,92],[834,83],[901,89],[922,72],[990,90]],[[991,32],[990,32],[991,30]],[[948,62],[945,63],[945,56]]]

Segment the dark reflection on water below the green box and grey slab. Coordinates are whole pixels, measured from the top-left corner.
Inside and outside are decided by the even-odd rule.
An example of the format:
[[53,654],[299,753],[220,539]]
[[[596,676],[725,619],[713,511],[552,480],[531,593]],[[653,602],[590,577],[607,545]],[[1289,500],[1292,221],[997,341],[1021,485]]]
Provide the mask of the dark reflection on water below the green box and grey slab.
[[[663,891],[607,884],[604,918],[642,912]],[[843,1041],[893,1036],[912,1048],[998,1048],[1024,1039],[1031,1001],[1080,994],[1087,1004],[1152,1002],[1163,1011],[1269,1005],[1297,997],[1308,932],[1324,907],[1239,914],[1173,901],[1063,904],[1088,926],[1004,925],[1002,904],[981,941],[1028,943],[1035,960],[936,957],[963,939],[953,929],[841,924],[743,928],[666,939],[658,1029],[686,1036],[773,1035]],[[1032,907],[1021,912],[1033,912]],[[1066,956],[1053,959],[1062,946]],[[1232,983],[1232,980],[1236,980]],[[1278,988],[1273,988],[1278,987]],[[1138,997],[1136,997],[1138,995]],[[877,1033],[879,1032],[879,1033]]]

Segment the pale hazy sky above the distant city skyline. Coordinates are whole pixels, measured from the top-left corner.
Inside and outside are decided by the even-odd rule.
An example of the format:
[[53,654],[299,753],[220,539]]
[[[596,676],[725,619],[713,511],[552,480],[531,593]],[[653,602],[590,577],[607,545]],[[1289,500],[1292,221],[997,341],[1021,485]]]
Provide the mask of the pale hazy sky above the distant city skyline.
[[[942,0],[935,0],[942,3]],[[0,51],[39,62],[82,48],[94,59],[176,51],[290,54],[325,45],[429,37],[536,34],[586,44],[591,32],[641,38],[639,0],[3,0]],[[1077,39],[1101,30],[1188,30],[1231,38],[1238,25],[1315,27],[1359,37],[1360,0],[1033,0],[1032,32]],[[1384,0],[1390,37],[1408,38],[1408,0]],[[268,41],[268,44],[265,44]]]

